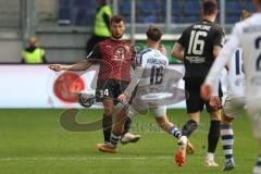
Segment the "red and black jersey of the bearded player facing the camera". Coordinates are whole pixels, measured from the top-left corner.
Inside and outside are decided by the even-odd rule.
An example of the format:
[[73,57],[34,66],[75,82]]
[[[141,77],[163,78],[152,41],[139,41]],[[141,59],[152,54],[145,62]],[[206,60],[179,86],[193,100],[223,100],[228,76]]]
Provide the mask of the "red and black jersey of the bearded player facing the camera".
[[91,62],[99,62],[99,79],[130,80],[130,65],[135,59],[134,46],[126,40],[108,39],[99,42],[87,57]]

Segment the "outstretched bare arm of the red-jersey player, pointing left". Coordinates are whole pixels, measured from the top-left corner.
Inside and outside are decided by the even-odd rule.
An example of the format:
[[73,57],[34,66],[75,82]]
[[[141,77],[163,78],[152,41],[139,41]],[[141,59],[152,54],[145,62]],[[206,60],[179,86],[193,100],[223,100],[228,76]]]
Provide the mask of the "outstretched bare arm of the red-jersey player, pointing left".
[[48,67],[54,72],[60,71],[85,71],[89,69],[92,65],[92,63],[88,60],[80,61],[75,64],[66,65],[66,64],[51,64]]

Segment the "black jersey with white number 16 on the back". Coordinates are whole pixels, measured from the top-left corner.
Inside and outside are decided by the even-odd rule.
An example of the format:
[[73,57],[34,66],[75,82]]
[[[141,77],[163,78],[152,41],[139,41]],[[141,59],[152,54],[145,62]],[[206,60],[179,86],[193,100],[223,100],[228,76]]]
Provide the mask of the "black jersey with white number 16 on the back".
[[177,40],[185,48],[185,78],[204,78],[214,61],[213,47],[223,47],[225,34],[210,21],[198,22],[185,29]]

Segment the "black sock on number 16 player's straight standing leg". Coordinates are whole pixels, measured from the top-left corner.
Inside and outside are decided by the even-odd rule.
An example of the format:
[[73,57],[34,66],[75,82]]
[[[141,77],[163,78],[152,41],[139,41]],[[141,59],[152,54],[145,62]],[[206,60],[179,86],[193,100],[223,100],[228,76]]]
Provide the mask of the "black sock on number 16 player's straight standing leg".
[[211,121],[209,129],[209,149],[208,152],[214,153],[220,139],[220,121]]

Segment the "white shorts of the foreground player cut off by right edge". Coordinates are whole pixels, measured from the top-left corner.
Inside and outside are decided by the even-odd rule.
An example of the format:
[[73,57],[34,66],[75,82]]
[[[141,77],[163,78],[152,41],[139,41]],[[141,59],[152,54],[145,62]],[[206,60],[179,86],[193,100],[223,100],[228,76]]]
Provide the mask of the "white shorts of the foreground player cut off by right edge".
[[253,135],[256,138],[261,140],[261,99],[249,99],[247,100],[248,113],[252,123]]

